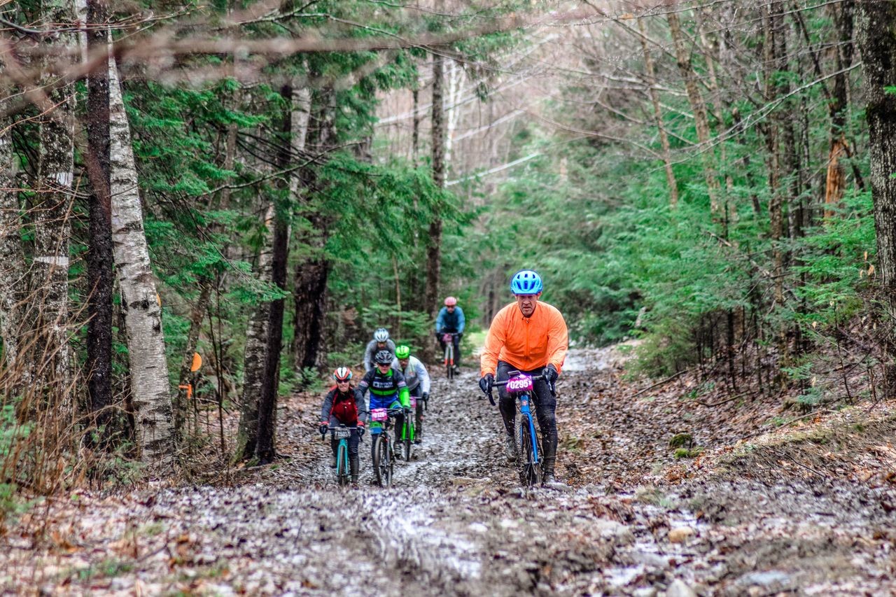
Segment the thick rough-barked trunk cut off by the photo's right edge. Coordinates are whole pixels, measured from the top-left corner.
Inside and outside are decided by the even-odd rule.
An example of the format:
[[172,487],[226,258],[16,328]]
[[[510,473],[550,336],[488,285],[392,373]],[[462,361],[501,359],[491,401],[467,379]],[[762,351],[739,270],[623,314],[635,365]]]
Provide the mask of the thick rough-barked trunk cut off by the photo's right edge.
[[[871,196],[877,233],[877,273],[890,313],[896,310],[896,95],[885,88],[896,82],[896,3],[858,0],[858,47],[862,54],[867,99]],[[891,322],[892,324],[892,322]],[[883,396],[896,395],[893,342],[884,346]]]

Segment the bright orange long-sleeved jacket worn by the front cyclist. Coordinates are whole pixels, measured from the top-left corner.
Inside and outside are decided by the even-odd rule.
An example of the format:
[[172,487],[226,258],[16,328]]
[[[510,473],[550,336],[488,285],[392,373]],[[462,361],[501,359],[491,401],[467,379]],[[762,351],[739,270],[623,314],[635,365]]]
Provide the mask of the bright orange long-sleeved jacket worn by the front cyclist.
[[492,320],[479,368],[482,376],[495,375],[500,359],[521,371],[551,364],[560,373],[567,343],[566,322],[556,307],[538,301],[532,316],[524,317],[514,302]]

